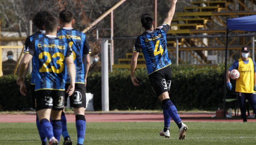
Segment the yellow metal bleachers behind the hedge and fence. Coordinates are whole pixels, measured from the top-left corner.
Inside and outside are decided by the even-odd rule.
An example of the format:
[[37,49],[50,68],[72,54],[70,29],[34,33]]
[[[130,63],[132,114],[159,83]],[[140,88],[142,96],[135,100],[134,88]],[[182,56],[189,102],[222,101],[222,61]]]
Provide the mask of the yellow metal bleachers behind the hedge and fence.
[[[183,7],[184,12],[176,13],[176,18],[172,20],[171,23],[171,29],[168,32],[169,36],[191,36],[194,34],[204,34],[207,33],[208,35],[212,34],[225,34],[226,33],[226,23],[222,21],[222,17],[228,17],[229,18],[236,18],[240,16],[248,16],[248,15],[255,15],[256,11],[253,11],[253,7],[247,8],[241,0],[236,0],[238,3],[240,3],[241,7],[244,7],[246,11],[235,11],[235,0],[198,0],[191,2],[190,7]],[[251,1],[251,0],[245,0],[245,1]],[[255,1],[256,0],[252,0]],[[216,29],[214,26],[214,22],[218,22],[218,25],[222,24],[223,26],[219,26],[221,28]],[[236,31],[241,32],[241,31]],[[200,41],[198,39],[190,39],[190,43],[193,41]],[[179,51],[187,51],[189,52],[195,59],[199,60],[199,58],[196,58],[195,55],[192,54],[191,51],[203,51],[205,49],[207,50],[216,50],[217,52],[223,51],[223,43],[220,42],[218,38],[215,38],[216,42],[220,45],[220,47],[191,47],[191,45],[188,44],[188,40],[180,39],[178,45],[181,46],[179,48]],[[203,45],[205,45],[202,42]],[[174,40],[167,40],[167,47],[168,51],[172,53],[174,56],[176,55],[174,53],[176,47],[176,41]],[[183,45],[186,45],[186,47],[182,47]],[[205,45],[206,46],[206,45]],[[234,47],[231,48],[237,51],[240,49],[240,47]],[[142,53],[139,53],[138,58],[138,65],[137,68],[145,68],[145,61]],[[233,54],[234,55],[234,54]],[[232,56],[233,56],[232,55]],[[130,68],[130,61],[131,61],[132,53],[126,53],[126,58],[118,59],[118,64],[113,65],[113,68]],[[205,58],[201,58],[205,59]],[[179,61],[181,63],[184,63],[179,58]],[[199,61],[200,62],[200,61]],[[201,62],[200,62],[201,63]]]

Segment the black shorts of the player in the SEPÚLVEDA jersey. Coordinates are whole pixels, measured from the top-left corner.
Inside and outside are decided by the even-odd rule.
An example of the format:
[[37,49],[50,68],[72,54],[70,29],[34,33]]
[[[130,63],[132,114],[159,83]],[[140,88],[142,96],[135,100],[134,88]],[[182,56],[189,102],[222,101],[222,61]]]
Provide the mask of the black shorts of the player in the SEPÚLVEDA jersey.
[[[69,83],[65,84],[65,91],[69,87]],[[86,107],[86,96],[85,96],[85,86],[81,83],[75,83],[75,91],[69,96],[65,94],[65,106],[67,106],[67,98],[69,97],[70,107],[79,108]]]

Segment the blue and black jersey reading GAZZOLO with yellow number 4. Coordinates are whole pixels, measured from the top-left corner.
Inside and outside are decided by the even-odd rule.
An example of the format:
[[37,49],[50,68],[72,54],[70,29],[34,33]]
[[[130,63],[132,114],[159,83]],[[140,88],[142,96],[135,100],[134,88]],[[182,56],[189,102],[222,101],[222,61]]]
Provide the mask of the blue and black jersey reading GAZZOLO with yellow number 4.
[[142,50],[148,74],[172,64],[166,47],[166,33],[169,28],[170,25],[164,23],[152,31],[144,32],[135,41],[133,52]]

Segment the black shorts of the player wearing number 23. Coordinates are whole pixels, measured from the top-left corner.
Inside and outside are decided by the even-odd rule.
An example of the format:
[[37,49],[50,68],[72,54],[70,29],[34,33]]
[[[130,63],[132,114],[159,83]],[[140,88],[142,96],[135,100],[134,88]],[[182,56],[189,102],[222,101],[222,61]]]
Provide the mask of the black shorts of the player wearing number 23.
[[36,110],[52,109],[63,110],[65,91],[63,90],[38,90],[36,95]]

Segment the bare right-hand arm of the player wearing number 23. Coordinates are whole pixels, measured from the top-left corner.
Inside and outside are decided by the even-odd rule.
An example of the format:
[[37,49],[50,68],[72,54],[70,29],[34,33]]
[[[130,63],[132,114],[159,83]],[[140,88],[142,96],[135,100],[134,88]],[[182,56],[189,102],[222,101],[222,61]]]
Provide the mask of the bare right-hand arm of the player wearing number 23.
[[66,93],[68,93],[69,96],[71,96],[75,91],[76,68],[73,61],[73,57],[66,57],[65,61],[67,64],[67,71],[69,73],[69,78],[70,78],[70,85]]

